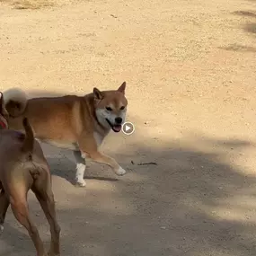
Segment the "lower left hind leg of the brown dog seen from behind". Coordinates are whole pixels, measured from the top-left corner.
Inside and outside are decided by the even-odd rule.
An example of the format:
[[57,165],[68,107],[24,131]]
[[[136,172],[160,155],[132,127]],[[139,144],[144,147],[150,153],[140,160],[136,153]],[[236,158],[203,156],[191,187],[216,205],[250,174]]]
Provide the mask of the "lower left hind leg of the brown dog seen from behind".
[[29,232],[31,240],[34,243],[34,246],[37,250],[38,256],[45,256],[43,243],[40,239],[40,234],[35,225],[31,221],[29,216],[28,203],[25,197],[16,197],[15,199],[11,198],[11,207],[13,209],[13,215],[16,219],[23,225]]

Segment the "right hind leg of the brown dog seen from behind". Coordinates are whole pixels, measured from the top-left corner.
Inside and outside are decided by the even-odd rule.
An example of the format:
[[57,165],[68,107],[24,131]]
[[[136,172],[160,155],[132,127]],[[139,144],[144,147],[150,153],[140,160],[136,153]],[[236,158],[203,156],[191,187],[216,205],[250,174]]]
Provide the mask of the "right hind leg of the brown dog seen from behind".
[[[31,188],[40,202],[45,216],[48,219],[51,234],[51,243],[49,249],[49,256],[59,255],[59,234],[60,227],[57,224],[54,195],[50,188],[51,182],[49,173],[41,175],[40,179],[35,182]],[[43,174],[43,173],[41,173]]]

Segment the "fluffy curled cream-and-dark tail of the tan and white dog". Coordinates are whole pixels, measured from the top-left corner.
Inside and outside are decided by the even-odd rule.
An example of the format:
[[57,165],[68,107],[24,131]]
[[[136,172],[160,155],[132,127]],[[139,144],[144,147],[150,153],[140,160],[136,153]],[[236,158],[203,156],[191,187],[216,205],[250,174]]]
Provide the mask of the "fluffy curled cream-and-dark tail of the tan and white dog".
[[27,94],[19,88],[4,91],[5,109],[12,117],[20,116],[28,102]]

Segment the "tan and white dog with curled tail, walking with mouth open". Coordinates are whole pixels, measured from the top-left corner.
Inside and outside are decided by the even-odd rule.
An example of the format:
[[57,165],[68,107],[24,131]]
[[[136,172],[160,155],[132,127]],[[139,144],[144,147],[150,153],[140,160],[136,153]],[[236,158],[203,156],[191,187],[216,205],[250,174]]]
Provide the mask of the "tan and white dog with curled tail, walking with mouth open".
[[4,92],[5,108],[10,114],[9,127],[23,130],[22,119],[30,119],[35,137],[53,146],[73,150],[76,161],[75,180],[86,185],[85,157],[108,164],[118,175],[126,171],[113,158],[99,151],[104,137],[112,129],[119,132],[126,118],[128,101],[126,83],[118,90],[100,91],[85,96],[66,95],[27,99],[20,89]]

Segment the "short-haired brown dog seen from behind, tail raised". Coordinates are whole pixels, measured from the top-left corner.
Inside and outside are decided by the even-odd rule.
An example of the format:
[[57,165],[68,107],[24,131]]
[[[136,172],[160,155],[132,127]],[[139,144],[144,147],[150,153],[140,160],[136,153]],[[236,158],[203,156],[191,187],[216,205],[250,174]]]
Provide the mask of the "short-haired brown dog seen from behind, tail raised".
[[28,230],[38,256],[45,256],[40,234],[29,216],[27,193],[31,189],[40,201],[50,225],[50,256],[59,255],[60,228],[56,220],[49,165],[31,126],[23,119],[25,134],[8,128],[8,113],[0,93],[0,231],[11,204],[13,215]]

